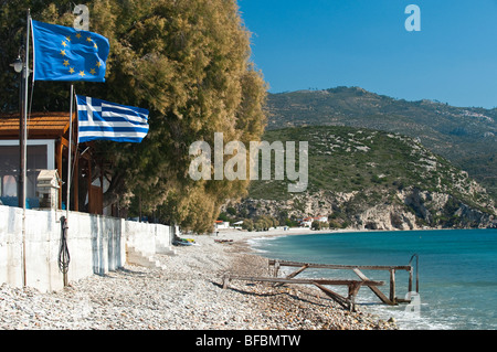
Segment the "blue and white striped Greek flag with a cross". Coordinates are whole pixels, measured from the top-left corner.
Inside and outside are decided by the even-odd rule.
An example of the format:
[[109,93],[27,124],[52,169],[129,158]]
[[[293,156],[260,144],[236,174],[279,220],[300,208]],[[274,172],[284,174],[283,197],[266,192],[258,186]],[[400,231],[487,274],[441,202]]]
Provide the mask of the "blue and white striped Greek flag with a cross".
[[139,143],[148,134],[148,110],[76,95],[80,143],[114,140]]

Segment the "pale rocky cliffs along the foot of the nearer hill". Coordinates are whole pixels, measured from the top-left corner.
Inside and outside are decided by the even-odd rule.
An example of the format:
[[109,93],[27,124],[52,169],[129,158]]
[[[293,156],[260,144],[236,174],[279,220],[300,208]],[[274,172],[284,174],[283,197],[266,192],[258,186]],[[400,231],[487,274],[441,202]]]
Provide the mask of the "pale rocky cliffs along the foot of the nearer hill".
[[[390,202],[368,204],[359,192],[317,192],[290,200],[244,199],[234,205],[248,218],[327,216],[331,228],[422,230],[496,227],[495,209],[472,207],[446,193],[403,190]],[[491,212],[491,211],[493,212]]]

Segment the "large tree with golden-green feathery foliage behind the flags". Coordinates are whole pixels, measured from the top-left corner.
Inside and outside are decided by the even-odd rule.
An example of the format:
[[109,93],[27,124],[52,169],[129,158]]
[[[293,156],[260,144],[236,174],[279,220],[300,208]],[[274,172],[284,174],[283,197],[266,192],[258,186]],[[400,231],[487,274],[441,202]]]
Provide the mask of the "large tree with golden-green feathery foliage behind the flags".
[[[89,30],[109,39],[105,84],[75,83],[78,94],[150,110],[139,145],[95,143],[112,179],[106,203],[141,194],[144,211],[162,222],[208,232],[220,205],[247,182],[192,181],[189,147],[214,132],[258,140],[266,124],[266,85],[250,61],[250,33],[234,0],[93,0]],[[35,20],[72,25],[72,1],[2,1],[0,108],[15,110],[19,90],[8,65],[18,54],[25,10]],[[67,83],[38,83],[32,110],[68,110]]]

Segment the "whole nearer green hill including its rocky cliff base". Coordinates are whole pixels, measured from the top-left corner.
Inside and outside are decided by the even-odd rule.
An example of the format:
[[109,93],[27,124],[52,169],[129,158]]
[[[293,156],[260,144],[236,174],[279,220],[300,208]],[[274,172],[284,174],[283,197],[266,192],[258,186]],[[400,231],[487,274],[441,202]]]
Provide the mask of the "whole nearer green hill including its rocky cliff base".
[[477,182],[416,140],[353,127],[269,130],[264,140],[308,141],[306,192],[288,181],[253,181],[248,198],[229,204],[256,218],[328,216],[334,227],[423,228],[494,226],[494,201]]

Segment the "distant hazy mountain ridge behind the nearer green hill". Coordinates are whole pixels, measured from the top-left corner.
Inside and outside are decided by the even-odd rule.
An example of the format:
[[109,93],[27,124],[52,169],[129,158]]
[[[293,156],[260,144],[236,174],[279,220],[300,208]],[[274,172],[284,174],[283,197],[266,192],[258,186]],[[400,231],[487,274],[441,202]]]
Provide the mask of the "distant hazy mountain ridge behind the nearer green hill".
[[408,102],[359,87],[269,94],[268,129],[351,126],[419,138],[433,152],[466,170],[497,199],[497,108]]

